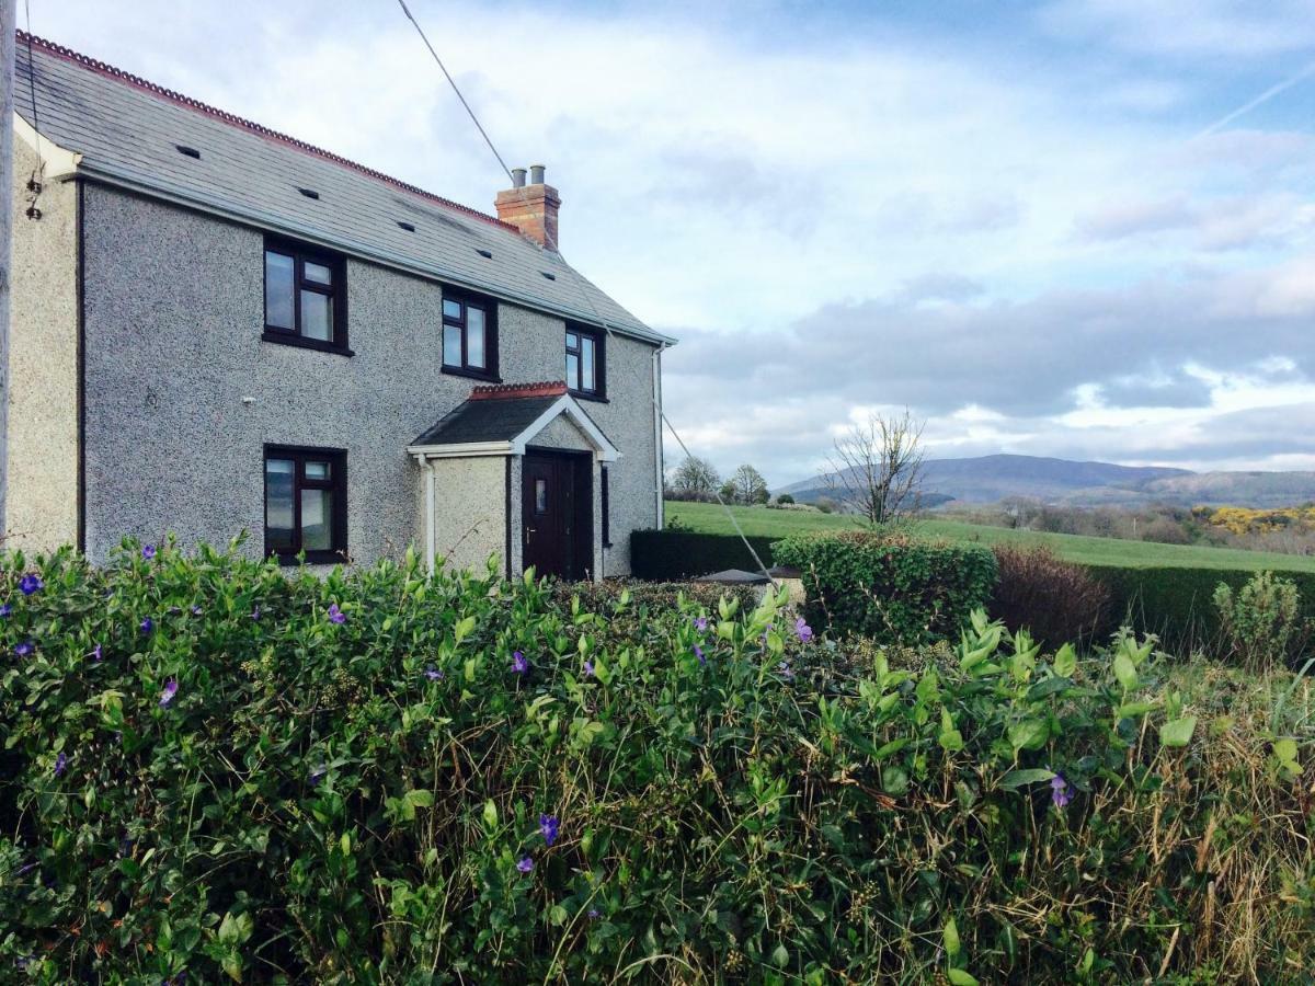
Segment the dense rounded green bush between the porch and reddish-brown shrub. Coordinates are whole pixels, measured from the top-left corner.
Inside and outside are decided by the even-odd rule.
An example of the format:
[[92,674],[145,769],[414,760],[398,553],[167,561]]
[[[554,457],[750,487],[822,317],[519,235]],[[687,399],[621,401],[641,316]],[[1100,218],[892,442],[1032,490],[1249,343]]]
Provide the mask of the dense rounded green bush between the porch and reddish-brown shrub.
[[995,584],[995,556],[970,544],[843,531],[786,538],[772,553],[801,569],[809,622],[881,642],[957,635]]

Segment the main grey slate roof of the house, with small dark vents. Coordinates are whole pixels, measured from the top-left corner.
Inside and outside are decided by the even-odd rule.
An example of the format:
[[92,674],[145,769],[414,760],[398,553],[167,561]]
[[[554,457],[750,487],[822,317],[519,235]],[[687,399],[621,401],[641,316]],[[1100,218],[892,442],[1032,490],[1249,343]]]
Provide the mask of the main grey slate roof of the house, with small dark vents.
[[34,124],[36,88],[38,131],[83,155],[79,174],[589,325],[675,342],[514,226],[36,37],[33,87],[28,42],[18,32],[14,106]]

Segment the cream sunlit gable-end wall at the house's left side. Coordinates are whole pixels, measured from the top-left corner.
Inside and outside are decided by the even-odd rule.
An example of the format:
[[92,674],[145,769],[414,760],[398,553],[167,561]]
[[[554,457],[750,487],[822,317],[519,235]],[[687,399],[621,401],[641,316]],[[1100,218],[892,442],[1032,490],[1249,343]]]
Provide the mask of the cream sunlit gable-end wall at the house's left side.
[[36,153],[14,135],[8,544],[78,543],[78,188],[46,183],[25,216]]

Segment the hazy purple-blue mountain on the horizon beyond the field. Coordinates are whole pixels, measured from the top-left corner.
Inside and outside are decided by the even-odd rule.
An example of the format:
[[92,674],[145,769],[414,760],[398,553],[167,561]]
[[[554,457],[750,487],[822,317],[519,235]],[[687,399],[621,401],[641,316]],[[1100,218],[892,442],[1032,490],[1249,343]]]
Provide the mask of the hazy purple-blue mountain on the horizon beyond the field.
[[[800,502],[828,496],[826,479],[813,476],[776,490]],[[1289,506],[1315,501],[1315,472],[1191,472],[1159,465],[1115,465],[985,455],[923,463],[923,504],[994,504],[1027,497],[1066,506],[1145,504],[1232,504]]]

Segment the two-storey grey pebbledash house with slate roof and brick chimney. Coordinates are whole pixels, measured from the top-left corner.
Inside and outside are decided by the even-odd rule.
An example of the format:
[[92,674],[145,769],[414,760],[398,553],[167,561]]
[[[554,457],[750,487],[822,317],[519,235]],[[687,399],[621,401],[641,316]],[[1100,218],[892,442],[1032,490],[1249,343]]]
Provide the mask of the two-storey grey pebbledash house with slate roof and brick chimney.
[[542,167],[488,216],[17,47],[11,547],[630,572],[673,340],[565,264]]

